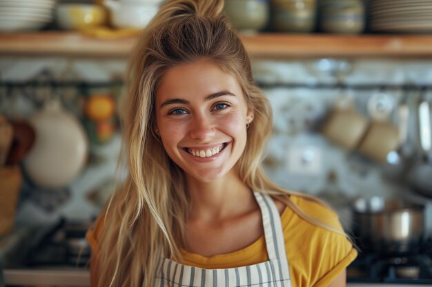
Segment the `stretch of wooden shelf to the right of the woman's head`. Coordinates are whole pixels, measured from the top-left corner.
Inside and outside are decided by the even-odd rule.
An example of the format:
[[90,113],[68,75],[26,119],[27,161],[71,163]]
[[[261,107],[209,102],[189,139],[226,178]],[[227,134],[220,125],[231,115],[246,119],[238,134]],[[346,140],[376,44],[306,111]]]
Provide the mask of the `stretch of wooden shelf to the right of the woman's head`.
[[432,57],[432,36],[424,35],[262,34],[242,39],[257,57]]

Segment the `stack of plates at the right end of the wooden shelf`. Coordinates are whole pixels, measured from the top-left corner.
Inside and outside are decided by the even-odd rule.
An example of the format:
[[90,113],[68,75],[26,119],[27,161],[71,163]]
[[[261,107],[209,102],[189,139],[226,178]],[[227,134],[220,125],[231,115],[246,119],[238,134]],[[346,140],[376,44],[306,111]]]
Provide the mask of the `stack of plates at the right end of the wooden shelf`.
[[371,30],[432,32],[431,0],[371,0]]

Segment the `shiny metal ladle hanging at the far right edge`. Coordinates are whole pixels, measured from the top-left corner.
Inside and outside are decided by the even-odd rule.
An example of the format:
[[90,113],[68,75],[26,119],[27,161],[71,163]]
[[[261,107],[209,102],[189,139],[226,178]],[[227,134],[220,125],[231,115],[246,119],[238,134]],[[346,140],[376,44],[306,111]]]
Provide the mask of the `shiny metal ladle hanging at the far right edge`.
[[431,107],[424,98],[418,106],[418,136],[421,158],[410,173],[410,182],[415,191],[432,198],[432,165],[429,151],[432,147]]

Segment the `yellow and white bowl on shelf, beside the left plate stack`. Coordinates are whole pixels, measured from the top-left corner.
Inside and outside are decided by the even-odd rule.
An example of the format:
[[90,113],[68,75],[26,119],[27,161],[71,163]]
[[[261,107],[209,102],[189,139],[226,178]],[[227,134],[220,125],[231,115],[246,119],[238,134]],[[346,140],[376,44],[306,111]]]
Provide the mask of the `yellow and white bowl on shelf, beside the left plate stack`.
[[106,24],[107,12],[93,4],[60,4],[56,8],[56,20],[63,30],[79,30]]

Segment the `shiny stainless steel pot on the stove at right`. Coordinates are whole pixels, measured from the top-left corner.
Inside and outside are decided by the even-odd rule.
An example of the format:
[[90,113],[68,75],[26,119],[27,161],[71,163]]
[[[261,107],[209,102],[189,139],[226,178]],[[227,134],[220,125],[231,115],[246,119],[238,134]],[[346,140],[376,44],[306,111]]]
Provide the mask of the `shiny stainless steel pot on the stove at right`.
[[425,237],[424,206],[374,197],[353,202],[353,232],[360,248],[404,253],[420,248]]

